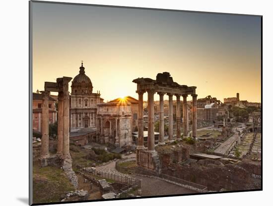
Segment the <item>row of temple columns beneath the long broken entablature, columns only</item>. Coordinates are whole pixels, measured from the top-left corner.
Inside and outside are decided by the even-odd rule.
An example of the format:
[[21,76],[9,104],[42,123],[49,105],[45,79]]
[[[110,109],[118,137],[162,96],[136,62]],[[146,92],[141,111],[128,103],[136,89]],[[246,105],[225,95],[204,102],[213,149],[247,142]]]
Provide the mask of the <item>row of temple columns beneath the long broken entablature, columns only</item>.
[[[138,144],[137,149],[143,149],[143,91],[137,91],[138,93]],[[154,144],[154,90],[148,90],[148,151],[155,151]],[[164,94],[163,92],[157,92],[159,94],[159,141],[158,144],[165,144],[164,141]],[[173,140],[173,95],[167,93],[169,96],[169,140]],[[176,96],[176,139],[181,139],[181,102],[180,94]],[[183,94],[183,136],[188,136],[188,115],[187,115],[187,94]],[[197,94],[192,94],[193,97],[193,137],[197,136]]]

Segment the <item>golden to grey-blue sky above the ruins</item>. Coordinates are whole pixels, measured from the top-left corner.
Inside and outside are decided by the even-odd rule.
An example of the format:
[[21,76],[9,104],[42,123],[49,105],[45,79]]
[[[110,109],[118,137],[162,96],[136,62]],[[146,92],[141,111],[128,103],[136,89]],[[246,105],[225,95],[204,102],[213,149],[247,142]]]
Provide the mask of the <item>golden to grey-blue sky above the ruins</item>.
[[177,83],[197,86],[198,98],[223,101],[239,92],[261,102],[259,16],[32,5],[34,92],[44,81],[76,76],[82,60],[105,101],[137,98],[133,79],[168,71]]

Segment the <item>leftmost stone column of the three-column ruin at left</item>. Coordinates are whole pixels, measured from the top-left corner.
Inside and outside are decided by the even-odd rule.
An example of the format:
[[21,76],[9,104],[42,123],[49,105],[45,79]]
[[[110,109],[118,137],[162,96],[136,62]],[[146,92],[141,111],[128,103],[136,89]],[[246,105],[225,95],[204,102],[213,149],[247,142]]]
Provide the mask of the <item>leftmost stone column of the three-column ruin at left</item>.
[[49,92],[42,91],[42,140],[41,140],[41,158],[49,157]]

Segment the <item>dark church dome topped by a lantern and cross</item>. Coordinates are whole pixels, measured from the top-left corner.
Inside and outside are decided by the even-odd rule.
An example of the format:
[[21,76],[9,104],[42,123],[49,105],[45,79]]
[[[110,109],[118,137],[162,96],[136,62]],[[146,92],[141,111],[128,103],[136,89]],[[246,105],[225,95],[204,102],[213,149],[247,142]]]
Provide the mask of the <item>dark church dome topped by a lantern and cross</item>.
[[83,63],[79,68],[79,74],[76,75],[72,80],[72,92],[71,94],[91,94],[93,85],[90,78],[85,74]]

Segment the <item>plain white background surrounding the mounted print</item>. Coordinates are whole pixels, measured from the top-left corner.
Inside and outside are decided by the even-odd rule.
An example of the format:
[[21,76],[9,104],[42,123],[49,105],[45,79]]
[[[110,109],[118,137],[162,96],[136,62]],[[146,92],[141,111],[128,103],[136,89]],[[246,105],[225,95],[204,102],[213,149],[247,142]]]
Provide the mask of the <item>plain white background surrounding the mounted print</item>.
[[[53,0],[54,1],[54,0]],[[263,15],[263,192],[183,196],[75,205],[202,205],[257,206],[272,202],[272,48],[273,12],[267,0],[59,0],[64,2],[137,6],[181,10]],[[28,0],[5,0],[0,4],[1,59],[1,205],[27,205],[28,199]],[[267,162],[267,164],[266,164]],[[156,188],[155,188],[156,189]],[[167,188],[166,188],[167,189]]]

